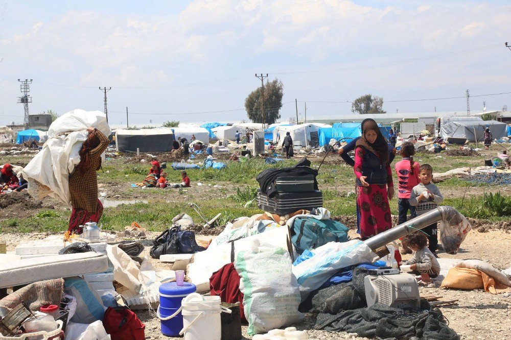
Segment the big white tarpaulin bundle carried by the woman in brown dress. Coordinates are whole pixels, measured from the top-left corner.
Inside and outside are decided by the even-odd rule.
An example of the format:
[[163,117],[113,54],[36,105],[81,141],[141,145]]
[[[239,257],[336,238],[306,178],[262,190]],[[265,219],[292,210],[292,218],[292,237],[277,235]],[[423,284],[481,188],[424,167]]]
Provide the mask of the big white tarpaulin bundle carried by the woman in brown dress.
[[48,130],[48,141],[42,150],[23,169],[23,178],[29,182],[29,193],[37,199],[53,197],[69,204],[69,174],[80,162],[80,151],[87,139],[87,128],[111,133],[106,116],[101,111],[73,110],[55,119]]

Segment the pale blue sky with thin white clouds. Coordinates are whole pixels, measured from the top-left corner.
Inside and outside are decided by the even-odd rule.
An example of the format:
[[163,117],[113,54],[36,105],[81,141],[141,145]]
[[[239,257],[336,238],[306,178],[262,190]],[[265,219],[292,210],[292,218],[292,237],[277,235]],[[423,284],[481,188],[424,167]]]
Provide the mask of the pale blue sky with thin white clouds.
[[[86,4],[85,4],[86,3]],[[506,1],[0,0],[0,126],[31,113],[103,110],[111,124],[246,119],[255,72],[284,83],[308,118],[351,113],[365,93],[388,112],[501,109],[511,104]],[[438,98],[463,97],[439,100]],[[410,101],[417,99],[436,99]],[[510,106],[511,108],[511,106]]]

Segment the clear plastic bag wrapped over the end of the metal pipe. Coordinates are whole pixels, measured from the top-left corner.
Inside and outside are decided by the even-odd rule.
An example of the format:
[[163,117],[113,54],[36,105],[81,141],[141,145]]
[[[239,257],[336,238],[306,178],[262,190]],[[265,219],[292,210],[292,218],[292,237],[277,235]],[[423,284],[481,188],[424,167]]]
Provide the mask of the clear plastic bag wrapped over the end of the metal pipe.
[[463,242],[467,233],[472,230],[472,227],[465,216],[454,210],[452,213],[449,211],[449,213],[442,216],[439,229],[440,241],[442,241],[445,252],[456,254],[461,242]]

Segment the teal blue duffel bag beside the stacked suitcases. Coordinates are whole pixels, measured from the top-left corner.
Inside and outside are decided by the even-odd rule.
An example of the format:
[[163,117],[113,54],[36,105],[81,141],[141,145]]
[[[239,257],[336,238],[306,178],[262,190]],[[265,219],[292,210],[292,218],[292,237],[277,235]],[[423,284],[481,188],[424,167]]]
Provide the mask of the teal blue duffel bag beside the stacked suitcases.
[[291,241],[298,254],[306,249],[316,249],[328,242],[346,242],[348,228],[334,220],[316,220],[297,217],[291,228]]

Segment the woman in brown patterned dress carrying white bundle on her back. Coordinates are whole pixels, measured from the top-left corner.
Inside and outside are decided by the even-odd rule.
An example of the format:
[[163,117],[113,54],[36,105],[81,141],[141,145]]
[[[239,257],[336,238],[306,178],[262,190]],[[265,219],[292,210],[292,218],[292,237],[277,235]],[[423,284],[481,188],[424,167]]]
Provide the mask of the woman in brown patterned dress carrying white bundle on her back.
[[89,135],[79,152],[80,163],[69,175],[69,193],[73,212],[69,219],[69,232],[81,234],[80,226],[87,222],[98,222],[103,214],[103,205],[98,200],[98,177],[101,154],[110,141],[98,129],[88,128]]

